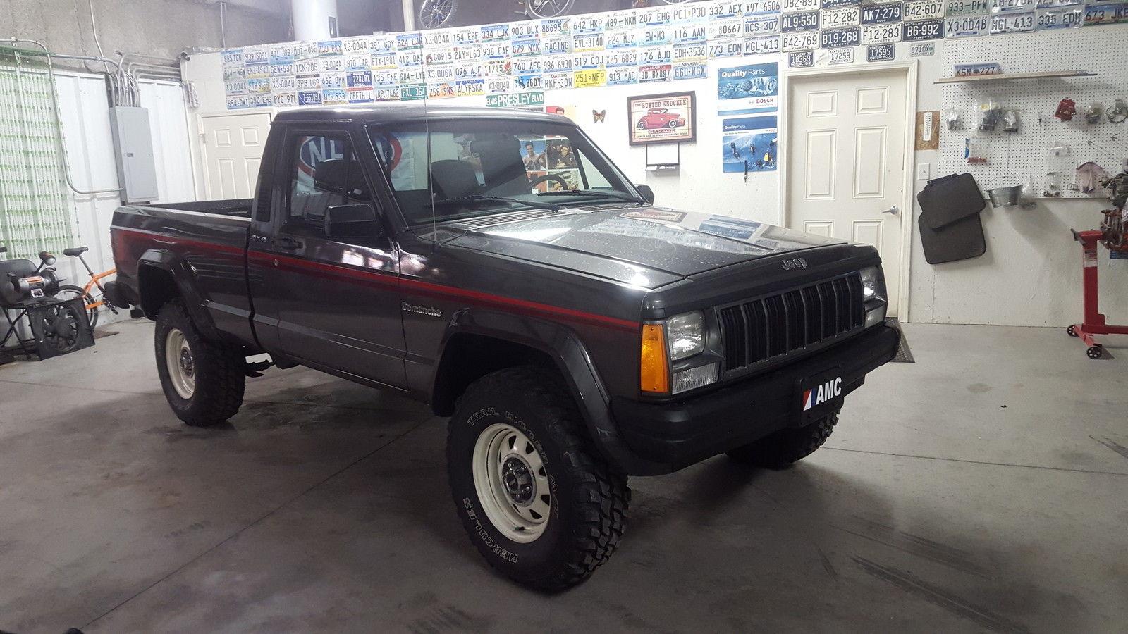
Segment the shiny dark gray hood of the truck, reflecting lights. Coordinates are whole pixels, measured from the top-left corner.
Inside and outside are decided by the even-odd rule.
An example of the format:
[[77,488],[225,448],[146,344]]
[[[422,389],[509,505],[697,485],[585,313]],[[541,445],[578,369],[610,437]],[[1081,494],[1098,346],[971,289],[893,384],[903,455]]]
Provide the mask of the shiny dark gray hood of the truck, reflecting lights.
[[741,262],[843,240],[726,215],[602,205],[459,223],[450,244],[655,288]]

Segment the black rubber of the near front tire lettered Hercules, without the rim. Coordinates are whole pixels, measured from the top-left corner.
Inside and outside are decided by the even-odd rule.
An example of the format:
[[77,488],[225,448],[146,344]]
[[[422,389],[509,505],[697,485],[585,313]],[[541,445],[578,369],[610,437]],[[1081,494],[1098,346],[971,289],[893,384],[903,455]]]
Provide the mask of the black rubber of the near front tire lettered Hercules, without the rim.
[[[502,574],[545,591],[580,583],[611,556],[631,500],[626,476],[596,452],[561,382],[535,367],[487,375],[459,398],[447,437],[450,490],[470,541]],[[548,522],[527,544],[510,539],[491,522],[475,487],[475,442],[495,423],[528,437],[547,472]]]

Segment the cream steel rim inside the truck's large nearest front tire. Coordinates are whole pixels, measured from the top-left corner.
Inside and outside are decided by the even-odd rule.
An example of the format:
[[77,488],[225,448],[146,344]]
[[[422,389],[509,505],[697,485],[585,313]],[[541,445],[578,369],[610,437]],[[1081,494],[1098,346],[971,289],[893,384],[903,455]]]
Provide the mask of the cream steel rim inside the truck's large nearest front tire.
[[552,509],[548,470],[527,435],[505,423],[490,425],[474,443],[472,465],[475,492],[494,528],[519,544],[544,535]]

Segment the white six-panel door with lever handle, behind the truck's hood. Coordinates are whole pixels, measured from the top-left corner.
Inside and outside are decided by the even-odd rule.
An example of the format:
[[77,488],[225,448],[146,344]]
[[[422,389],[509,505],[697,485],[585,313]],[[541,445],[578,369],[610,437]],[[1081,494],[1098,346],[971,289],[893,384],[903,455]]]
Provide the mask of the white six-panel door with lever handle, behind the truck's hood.
[[905,204],[906,71],[793,76],[787,224],[873,245],[897,315]]

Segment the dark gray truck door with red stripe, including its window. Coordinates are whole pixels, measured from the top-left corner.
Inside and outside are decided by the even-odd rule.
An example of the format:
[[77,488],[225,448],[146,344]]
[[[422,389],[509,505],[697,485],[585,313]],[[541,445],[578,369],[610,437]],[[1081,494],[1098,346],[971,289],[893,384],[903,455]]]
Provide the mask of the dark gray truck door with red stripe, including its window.
[[[387,231],[331,239],[326,210],[365,203],[384,217],[343,127],[291,129],[276,231],[265,250],[287,355],[378,384],[406,386],[398,258]],[[381,226],[384,223],[381,222]]]

